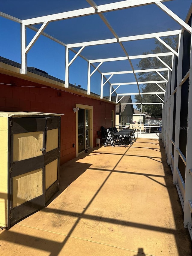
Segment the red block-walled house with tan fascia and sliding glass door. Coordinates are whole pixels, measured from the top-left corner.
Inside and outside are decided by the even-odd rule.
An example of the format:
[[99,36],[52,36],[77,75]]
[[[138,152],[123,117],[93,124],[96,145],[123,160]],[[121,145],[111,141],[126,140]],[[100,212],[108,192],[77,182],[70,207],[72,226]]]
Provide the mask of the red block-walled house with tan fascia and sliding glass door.
[[[101,126],[115,126],[115,102],[36,68],[20,74],[21,65],[0,57],[0,111],[44,112],[61,116],[60,164],[95,146]],[[73,108],[78,109],[76,112]]]

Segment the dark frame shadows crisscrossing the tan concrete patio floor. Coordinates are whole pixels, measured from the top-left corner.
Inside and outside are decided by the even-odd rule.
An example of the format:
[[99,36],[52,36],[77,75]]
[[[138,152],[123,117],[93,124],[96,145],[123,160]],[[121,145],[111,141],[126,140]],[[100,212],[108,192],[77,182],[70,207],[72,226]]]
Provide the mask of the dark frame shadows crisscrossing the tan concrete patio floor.
[[[173,235],[175,237],[178,255],[179,256],[191,255],[190,254],[191,253],[191,240],[190,240],[190,236],[188,234],[188,230],[184,229],[184,226],[182,223],[183,211],[182,211],[182,206],[180,204],[179,195],[177,194],[176,187],[173,186],[172,179],[170,179],[172,172],[170,170],[170,167],[167,165],[166,154],[165,154],[164,150],[162,150],[162,148],[163,148],[162,142],[160,142],[160,146],[161,146],[161,162],[163,163],[164,174],[165,174],[164,176],[162,176],[162,175],[160,176],[160,177],[164,177],[164,181],[165,181],[165,185],[164,184],[161,184],[161,185],[164,185],[167,188],[168,193],[169,193],[170,203],[172,205],[173,215],[174,215],[174,219],[175,219],[175,227],[173,227],[173,229],[159,227],[159,226],[146,225],[146,224],[141,224],[141,223],[134,223],[131,221],[124,221],[124,220],[115,219],[115,218],[104,218],[104,217],[101,217],[98,215],[88,215],[85,213],[85,211],[91,205],[91,203],[93,202],[95,197],[98,195],[98,193],[101,191],[104,184],[107,182],[107,180],[109,179],[109,177],[111,176],[111,174],[113,172],[120,172],[120,173],[122,172],[122,173],[128,173],[128,174],[130,173],[130,172],[126,172],[126,171],[115,170],[115,168],[118,166],[121,159],[127,154],[128,150],[130,149],[130,147],[129,147],[129,148],[125,149],[121,158],[116,163],[116,165],[113,167],[113,170],[106,169],[106,171],[109,172],[109,174],[107,175],[106,179],[103,181],[101,186],[98,188],[98,190],[96,191],[94,196],[91,198],[91,200],[89,201],[87,206],[84,208],[82,213],[63,211],[60,209],[49,209],[49,208],[44,208],[41,210],[43,212],[52,212],[52,213],[57,213],[60,215],[75,216],[77,218],[74,221],[74,224],[71,227],[70,231],[67,233],[66,236],[64,236],[65,238],[62,242],[50,241],[49,239],[37,238],[35,236],[30,236],[27,234],[25,235],[25,234],[16,233],[16,232],[14,232],[13,229],[5,230],[1,234],[1,240],[8,241],[13,244],[20,244],[20,245],[25,245],[25,246],[32,247],[32,248],[38,248],[43,251],[49,251],[50,256],[55,256],[60,253],[61,249],[64,247],[67,240],[72,235],[73,230],[76,228],[79,221],[82,218],[84,218],[84,219],[91,219],[91,220],[97,220],[97,221],[104,221],[104,222],[108,222],[108,223],[114,223],[117,225],[124,225],[124,226],[131,226],[131,227],[135,227],[135,228],[142,228],[142,229],[146,229],[146,230],[159,231],[162,233],[170,233],[170,235]],[[130,155],[130,157],[131,157],[131,155]],[[70,168],[70,173],[69,173],[69,168]],[[49,203],[52,200],[54,200],[65,188],[67,188],[68,185],[70,185],[71,182],[73,182],[75,179],[77,179],[87,169],[91,169],[91,164],[79,163],[74,160],[70,161],[70,162],[68,162],[68,164],[64,165],[64,169],[61,171],[60,190],[58,191],[58,193],[56,193],[51,198]],[[104,169],[101,169],[101,170],[104,171]],[[155,179],[152,177],[159,176],[159,175],[137,173],[137,172],[131,172],[131,174],[146,175],[148,178],[153,179],[153,181],[155,181]],[[167,179],[166,177],[169,177],[169,178]],[[143,255],[147,255],[144,252],[144,248],[138,248],[138,252],[137,252],[137,254],[135,254],[135,256],[143,256]],[[91,256],[91,254],[90,254],[90,256]]]

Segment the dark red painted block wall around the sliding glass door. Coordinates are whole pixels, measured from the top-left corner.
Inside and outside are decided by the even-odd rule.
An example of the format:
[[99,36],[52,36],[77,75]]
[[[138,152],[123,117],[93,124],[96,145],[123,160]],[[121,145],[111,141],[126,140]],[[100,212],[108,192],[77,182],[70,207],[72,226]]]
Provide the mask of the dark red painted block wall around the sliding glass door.
[[[76,157],[76,149],[73,148],[73,143],[76,144],[76,115],[73,113],[75,104],[93,106],[93,146],[101,126],[106,128],[111,126],[111,110],[115,110],[114,104],[59,91],[4,74],[0,75],[0,83],[0,111],[64,114],[61,116],[60,164]],[[12,83],[16,86],[7,85]],[[58,96],[58,92],[61,92],[61,96]]]

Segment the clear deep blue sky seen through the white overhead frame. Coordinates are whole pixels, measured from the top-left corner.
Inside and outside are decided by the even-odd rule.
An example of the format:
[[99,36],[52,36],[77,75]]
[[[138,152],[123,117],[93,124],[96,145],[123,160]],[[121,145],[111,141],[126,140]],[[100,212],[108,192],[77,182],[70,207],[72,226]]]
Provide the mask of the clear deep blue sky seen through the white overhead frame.
[[[96,4],[106,4],[113,1],[95,1]],[[117,2],[117,1],[115,1]],[[45,4],[46,3],[46,4]],[[180,18],[185,19],[191,1],[170,1],[164,4],[174,11]],[[0,11],[19,19],[43,16],[55,12],[70,11],[78,8],[86,8],[90,5],[85,1],[1,1]],[[167,29],[180,29],[178,23],[171,19],[155,5],[147,5],[127,10],[108,12],[104,14],[119,37],[128,35],[139,35],[153,32],[167,31]],[[88,18],[88,19],[87,19]],[[90,17],[79,17],[75,19],[62,20],[49,23],[45,32],[58,38],[64,43],[74,43],[82,41],[92,41],[99,39],[113,38],[98,15]],[[37,26],[39,27],[39,25]],[[35,32],[27,29],[27,43],[30,42]],[[136,42],[126,42],[124,47],[129,55],[142,54],[155,48],[154,39],[141,40]],[[78,50],[78,49],[76,49]],[[109,58],[125,56],[119,44],[109,44],[85,47],[82,55],[88,59]],[[0,17],[0,56],[21,63],[20,46],[20,24]],[[74,53],[70,52],[70,59]],[[137,61],[133,61],[136,68]],[[46,71],[48,74],[65,80],[65,47],[54,41],[40,36],[38,41],[27,54],[27,65]],[[96,66],[98,64],[95,64]],[[70,66],[69,82],[80,84],[86,89],[87,85],[87,62],[78,57]],[[115,70],[131,70],[128,61],[107,62],[101,65],[102,72]],[[101,77],[95,72],[91,77],[91,91],[100,93]],[[118,81],[118,77],[113,77],[111,83]],[[133,75],[122,80],[134,82]],[[107,86],[104,87],[106,91]],[[127,87],[129,92],[137,92],[137,87]],[[125,86],[118,92],[123,92]]]

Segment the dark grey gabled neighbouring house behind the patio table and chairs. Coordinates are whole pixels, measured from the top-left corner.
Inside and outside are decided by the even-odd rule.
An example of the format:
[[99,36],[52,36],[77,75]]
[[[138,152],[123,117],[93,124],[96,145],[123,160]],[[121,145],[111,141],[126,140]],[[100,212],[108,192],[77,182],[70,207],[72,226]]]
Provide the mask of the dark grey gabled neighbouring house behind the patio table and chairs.
[[[132,103],[131,96],[124,96],[120,103]],[[121,113],[119,113],[119,109],[121,109]],[[133,105],[116,105],[116,127],[121,125],[125,125],[126,123],[131,123],[133,119],[134,108]]]

